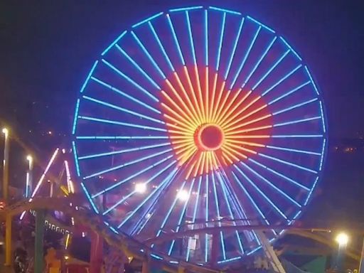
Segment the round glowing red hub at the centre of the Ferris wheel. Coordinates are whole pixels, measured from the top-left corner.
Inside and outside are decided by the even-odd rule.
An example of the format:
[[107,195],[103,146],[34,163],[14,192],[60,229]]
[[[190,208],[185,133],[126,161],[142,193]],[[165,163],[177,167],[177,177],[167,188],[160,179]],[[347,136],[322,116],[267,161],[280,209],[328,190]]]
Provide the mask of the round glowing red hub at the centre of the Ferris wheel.
[[216,124],[205,124],[196,130],[196,145],[202,151],[220,149],[224,142],[224,132]]

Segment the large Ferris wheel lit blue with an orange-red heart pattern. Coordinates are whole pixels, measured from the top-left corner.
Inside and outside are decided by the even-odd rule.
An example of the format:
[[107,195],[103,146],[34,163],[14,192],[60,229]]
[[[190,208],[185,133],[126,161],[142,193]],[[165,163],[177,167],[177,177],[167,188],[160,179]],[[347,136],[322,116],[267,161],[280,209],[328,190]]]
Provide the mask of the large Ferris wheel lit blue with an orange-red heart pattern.
[[[122,32],[82,85],[73,135],[95,213],[141,242],[175,233],[152,249],[196,264],[259,250],[254,229],[234,227],[291,225],[319,181],[327,139],[301,56],[255,18],[213,6]],[[205,232],[178,236],[191,230]]]

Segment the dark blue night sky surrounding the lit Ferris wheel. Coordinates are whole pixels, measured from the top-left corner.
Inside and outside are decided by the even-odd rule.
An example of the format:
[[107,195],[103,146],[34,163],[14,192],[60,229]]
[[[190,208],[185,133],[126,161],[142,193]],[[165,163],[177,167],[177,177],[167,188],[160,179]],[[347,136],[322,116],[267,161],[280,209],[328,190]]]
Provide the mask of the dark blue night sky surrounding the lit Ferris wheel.
[[[45,143],[46,149],[68,144],[77,93],[97,56],[124,28],[177,2],[1,1],[0,121],[36,151],[45,153]],[[364,202],[361,1],[221,2],[183,1],[173,7],[211,4],[242,11],[272,27],[299,52],[323,93],[331,144],[313,203],[321,214],[311,210],[308,215],[354,219]],[[358,151],[332,151],[341,143],[338,139],[357,139]]]

